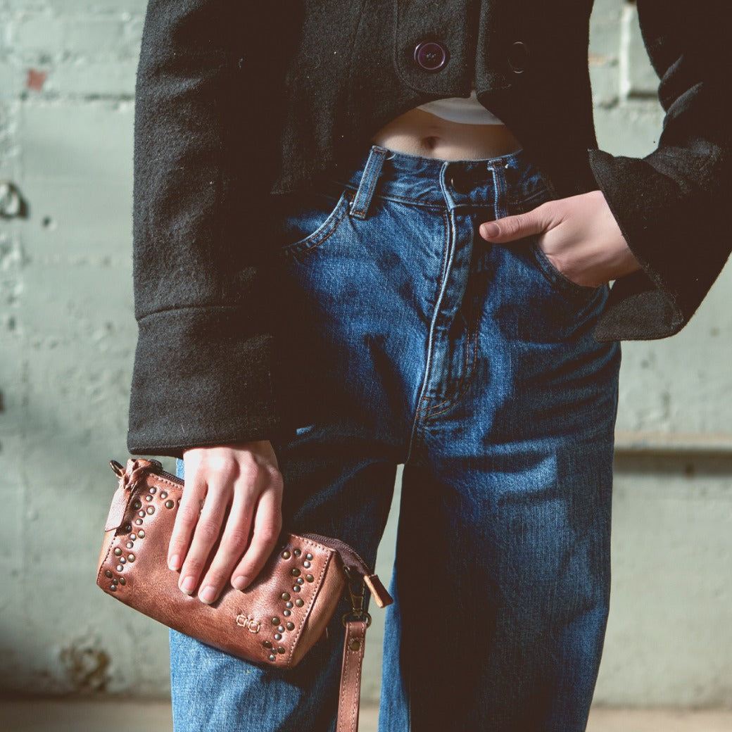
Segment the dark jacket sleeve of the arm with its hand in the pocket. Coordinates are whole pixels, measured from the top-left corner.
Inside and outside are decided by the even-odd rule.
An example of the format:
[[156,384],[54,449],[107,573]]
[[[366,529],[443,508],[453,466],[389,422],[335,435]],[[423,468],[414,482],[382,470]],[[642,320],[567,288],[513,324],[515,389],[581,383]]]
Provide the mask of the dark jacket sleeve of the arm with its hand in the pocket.
[[660,338],[689,321],[730,253],[730,32],[722,0],[638,0],[665,111],[643,159],[590,151],[590,165],[642,271],[613,285],[598,340]]

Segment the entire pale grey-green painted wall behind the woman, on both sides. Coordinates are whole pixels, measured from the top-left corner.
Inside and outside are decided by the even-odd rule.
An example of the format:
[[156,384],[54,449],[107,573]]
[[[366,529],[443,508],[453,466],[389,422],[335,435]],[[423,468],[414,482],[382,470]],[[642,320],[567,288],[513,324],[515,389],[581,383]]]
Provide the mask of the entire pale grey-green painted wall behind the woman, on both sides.
[[[168,691],[163,627],[102,595],[125,456],[133,84],[143,0],[0,0],[0,688]],[[598,0],[600,144],[654,147],[662,115],[635,7]],[[561,100],[558,100],[561,104]],[[553,110],[547,110],[552,114]],[[12,212],[12,201],[4,201]],[[692,236],[690,246],[703,248]],[[701,242],[703,244],[703,242]],[[732,273],[679,336],[624,347],[613,602],[597,701],[732,704]],[[381,551],[387,579],[394,537]],[[378,693],[379,635],[365,694]]]

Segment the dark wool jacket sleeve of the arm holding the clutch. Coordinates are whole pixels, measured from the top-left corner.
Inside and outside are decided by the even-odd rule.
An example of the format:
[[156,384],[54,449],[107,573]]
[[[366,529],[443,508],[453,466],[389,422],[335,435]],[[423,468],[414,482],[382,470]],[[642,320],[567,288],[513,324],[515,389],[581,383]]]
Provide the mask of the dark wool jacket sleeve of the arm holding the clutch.
[[258,41],[272,37],[262,26],[274,18],[249,17],[260,5],[147,8],[135,101],[133,453],[180,455],[279,426],[258,231],[275,120],[247,113],[275,83]]

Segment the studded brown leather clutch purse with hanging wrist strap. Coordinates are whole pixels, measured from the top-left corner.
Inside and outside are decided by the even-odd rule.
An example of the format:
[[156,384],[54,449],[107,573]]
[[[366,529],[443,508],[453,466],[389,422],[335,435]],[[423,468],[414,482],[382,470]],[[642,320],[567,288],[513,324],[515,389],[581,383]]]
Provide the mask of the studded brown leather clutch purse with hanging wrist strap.
[[[99,558],[97,585],[141,613],[234,656],[280,668],[296,665],[324,636],[344,595],[346,642],[337,729],[355,730],[360,666],[370,616],[365,587],[379,607],[392,602],[365,562],[338,539],[283,534],[244,591],[228,587],[213,605],[178,589],[166,556],[184,482],[157,460],[110,463],[119,479]],[[355,706],[355,717],[354,717]],[[348,719],[346,719],[347,715]]]

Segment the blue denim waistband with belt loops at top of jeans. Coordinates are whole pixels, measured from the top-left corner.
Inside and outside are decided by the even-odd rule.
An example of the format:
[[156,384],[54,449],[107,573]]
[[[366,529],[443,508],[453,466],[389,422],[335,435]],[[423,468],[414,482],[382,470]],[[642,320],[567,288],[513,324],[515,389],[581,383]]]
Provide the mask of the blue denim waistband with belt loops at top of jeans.
[[526,201],[547,190],[523,149],[481,160],[441,160],[374,145],[337,183],[356,191],[351,212],[364,217],[374,196],[454,208],[495,206],[499,198]]

